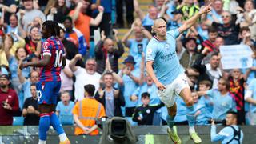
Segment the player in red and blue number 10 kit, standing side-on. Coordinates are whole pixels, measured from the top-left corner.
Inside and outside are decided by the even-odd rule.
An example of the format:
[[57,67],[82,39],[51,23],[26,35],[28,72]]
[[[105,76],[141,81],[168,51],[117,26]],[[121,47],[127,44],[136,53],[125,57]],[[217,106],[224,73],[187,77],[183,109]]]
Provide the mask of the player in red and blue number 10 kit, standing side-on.
[[38,104],[40,111],[39,121],[39,144],[46,143],[49,126],[57,131],[60,143],[68,144],[69,139],[54,113],[57,96],[61,87],[60,73],[65,66],[66,59],[63,57],[64,47],[58,39],[60,28],[57,22],[46,21],[42,24],[42,38],[47,38],[42,43],[41,60],[38,62],[26,62],[20,64],[20,69],[27,66],[42,67],[40,81],[37,83]]

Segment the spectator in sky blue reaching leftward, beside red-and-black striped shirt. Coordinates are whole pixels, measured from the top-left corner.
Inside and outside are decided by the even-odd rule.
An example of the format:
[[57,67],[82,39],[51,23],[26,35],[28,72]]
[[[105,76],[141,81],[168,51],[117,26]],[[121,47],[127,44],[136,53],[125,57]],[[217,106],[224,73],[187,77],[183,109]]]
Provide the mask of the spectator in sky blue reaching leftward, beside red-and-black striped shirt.
[[213,119],[215,121],[222,121],[226,117],[226,113],[230,110],[235,109],[234,99],[232,98],[230,92],[230,83],[224,79],[220,78],[218,80],[218,90],[211,89],[207,91],[198,91],[198,95],[208,95],[213,98],[214,109],[213,109]]

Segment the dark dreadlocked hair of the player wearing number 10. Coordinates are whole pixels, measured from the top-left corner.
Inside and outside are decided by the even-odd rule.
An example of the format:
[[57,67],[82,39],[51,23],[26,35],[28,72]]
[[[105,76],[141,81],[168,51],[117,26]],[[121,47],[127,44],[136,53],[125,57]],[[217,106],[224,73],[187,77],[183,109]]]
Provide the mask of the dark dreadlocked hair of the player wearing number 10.
[[50,34],[50,36],[59,37],[60,28],[57,22],[46,21],[42,23],[42,27],[45,27],[45,29],[48,31],[48,34]]

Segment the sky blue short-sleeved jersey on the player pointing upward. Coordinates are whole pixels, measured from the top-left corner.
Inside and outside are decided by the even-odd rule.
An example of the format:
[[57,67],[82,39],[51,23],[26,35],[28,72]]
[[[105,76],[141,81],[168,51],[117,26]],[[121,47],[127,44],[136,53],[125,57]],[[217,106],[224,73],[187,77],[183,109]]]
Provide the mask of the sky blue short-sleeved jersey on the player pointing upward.
[[152,38],[146,47],[146,62],[154,62],[154,71],[162,84],[174,81],[183,72],[176,54],[176,38],[178,29],[170,30],[166,34],[166,41]]

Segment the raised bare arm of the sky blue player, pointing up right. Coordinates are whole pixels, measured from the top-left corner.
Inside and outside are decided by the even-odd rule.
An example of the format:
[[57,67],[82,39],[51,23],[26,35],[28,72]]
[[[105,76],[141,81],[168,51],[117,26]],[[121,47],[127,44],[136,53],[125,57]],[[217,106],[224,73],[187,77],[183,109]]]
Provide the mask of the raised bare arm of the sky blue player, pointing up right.
[[206,14],[206,13],[210,12],[210,10],[211,10],[210,6],[211,6],[211,3],[208,6],[199,10],[199,12],[197,14],[194,14],[193,17],[191,17],[186,22],[184,22],[184,24],[178,28],[179,33],[181,34],[184,31],[188,30],[191,26],[193,26],[194,23],[198,21],[198,18],[200,18],[202,14]]

